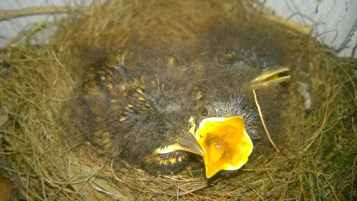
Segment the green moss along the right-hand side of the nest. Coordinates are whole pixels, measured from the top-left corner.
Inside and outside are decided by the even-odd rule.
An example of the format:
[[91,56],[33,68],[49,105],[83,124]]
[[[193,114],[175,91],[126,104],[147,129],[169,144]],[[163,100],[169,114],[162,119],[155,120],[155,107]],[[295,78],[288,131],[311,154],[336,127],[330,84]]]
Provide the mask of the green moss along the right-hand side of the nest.
[[[351,178],[353,162],[356,160],[357,139],[355,138],[356,133],[352,129],[353,122],[351,121],[351,115],[357,114],[357,107],[355,102],[353,102],[357,75],[355,72],[350,71],[348,80],[345,81],[346,73],[347,67],[336,72],[336,77],[340,80],[339,82],[345,85],[342,90],[338,91],[337,96],[334,97],[335,99],[329,106],[329,112],[333,111],[328,116],[321,136],[317,138],[313,146],[307,151],[307,155],[301,164],[305,170],[312,170],[328,175],[319,175],[313,172],[304,173],[303,176],[305,178],[302,177],[301,184],[307,198],[311,196],[311,193],[314,194],[313,196],[317,200],[332,198],[333,194],[331,193],[328,194],[328,197],[325,197],[326,189],[322,189],[321,186],[331,186],[337,197],[341,200],[348,198],[346,197],[348,195],[341,193],[343,191],[341,184],[346,183],[347,178]],[[325,115],[324,107],[318,103],[315,110],[312,111],[313,117],[310,118],[310,122],[314,126],[311,127],[311,133],[321,128],[321,117]],[[333,178],[326,181],[330,175]],[[314,184],[309,184],[310,181],[306,181],[306,178],[309,178],[309,176],[310,180],[315,182]],[[311,187],[313,187],[312,190]]]

